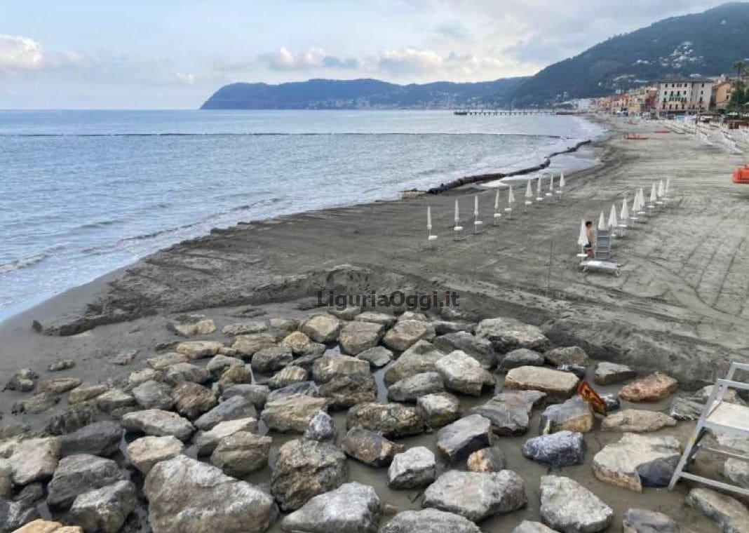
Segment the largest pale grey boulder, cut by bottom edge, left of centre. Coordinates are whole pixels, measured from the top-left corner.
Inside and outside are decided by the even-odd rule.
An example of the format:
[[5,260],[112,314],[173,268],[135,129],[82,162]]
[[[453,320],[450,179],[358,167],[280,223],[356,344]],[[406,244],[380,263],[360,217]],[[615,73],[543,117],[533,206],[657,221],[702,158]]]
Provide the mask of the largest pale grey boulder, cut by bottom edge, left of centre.
[[154,533],[259,533],[278,516],[271,496],[185,455],[157,463],[143,492]]

